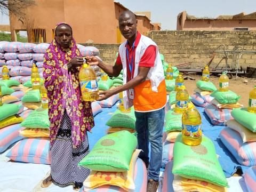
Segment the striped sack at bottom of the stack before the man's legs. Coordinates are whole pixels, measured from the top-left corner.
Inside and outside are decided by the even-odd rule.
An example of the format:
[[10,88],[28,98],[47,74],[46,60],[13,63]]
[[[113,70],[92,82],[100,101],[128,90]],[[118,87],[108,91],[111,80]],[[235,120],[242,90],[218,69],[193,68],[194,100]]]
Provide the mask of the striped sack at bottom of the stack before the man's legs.
[[[134,170],[134,184],[135,184],[135,190],[131,190],[133,192],[142,192],[147,190],[147,169],[145,163],[138,158],[137,162],[135,164],[135,170]],[[84,190],[82,188],[80,190],[81,192],[85,192],[87,190]],[[90,192],[125,192],[125,190],[121,187],[117,186],[111,186],[111,185],[103,185],[98,188],[90,190]]]

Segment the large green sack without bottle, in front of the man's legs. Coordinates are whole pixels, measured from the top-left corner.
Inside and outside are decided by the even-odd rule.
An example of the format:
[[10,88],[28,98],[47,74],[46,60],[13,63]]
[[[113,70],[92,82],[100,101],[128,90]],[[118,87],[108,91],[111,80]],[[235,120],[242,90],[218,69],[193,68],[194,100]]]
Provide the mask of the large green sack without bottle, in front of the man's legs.
[[78,165],[94,171],[127,171],[136,147],[137,138],[129,131],[111,133],[102,137]]

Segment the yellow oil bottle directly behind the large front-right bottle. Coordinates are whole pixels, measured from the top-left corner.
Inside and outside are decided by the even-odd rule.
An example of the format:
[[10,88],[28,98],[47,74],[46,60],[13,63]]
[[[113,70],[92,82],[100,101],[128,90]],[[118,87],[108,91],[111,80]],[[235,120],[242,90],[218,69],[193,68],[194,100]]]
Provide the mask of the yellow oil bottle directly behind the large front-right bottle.
[[178,92],[176,93],[176,103],[174,111],[175,113],[183,113],[188,107],[189,94],[184,85],[179,87]]

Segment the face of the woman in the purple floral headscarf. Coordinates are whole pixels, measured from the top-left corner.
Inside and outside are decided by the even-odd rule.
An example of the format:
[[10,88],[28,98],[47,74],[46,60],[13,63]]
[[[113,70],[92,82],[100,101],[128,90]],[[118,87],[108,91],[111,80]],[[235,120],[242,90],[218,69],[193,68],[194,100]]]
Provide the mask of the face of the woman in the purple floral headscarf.
[[55,30],[57,42],[64,49],[69,48],[72,42],[72,30],[67,25],[59,25]]

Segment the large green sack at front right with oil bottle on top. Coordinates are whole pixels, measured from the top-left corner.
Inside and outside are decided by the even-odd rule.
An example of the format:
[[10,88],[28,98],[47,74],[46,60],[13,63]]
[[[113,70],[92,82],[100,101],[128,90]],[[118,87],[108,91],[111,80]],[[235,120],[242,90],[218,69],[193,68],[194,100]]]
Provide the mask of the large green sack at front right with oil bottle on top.
[[173,148],[173,174],[183,178],[202,180],[228,187],[228,182],[217,159],[213,142],[202,136],[198,146],[185,145],[179,134]]

